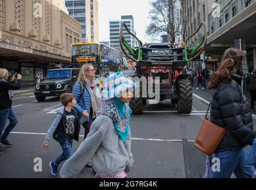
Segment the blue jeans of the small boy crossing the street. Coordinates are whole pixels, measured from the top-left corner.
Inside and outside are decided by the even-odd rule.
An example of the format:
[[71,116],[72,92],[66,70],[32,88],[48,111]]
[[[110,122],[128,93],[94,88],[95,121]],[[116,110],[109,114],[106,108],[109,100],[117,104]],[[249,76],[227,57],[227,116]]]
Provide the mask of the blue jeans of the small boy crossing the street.
[[61,156],[59,156],[55,161],[54,164],[55,165],[59,165],[62,161],[64,160],[68,160],[69,157],[71,157],[73,155],[73,151],[72,151],[72,143],[73,140],[69,140],[66,139],[64,141],[64,143],[59,143],[61,145],[62,151],[63,153],[61,154]]

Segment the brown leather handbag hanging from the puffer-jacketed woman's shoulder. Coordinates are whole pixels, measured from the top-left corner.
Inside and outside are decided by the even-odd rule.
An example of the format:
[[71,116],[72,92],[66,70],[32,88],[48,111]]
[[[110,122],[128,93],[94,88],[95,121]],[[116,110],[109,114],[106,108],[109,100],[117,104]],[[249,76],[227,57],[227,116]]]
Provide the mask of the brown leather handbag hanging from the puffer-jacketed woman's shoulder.
[[207,119],[210,105],[206,113],[206,118],[204,118],[200,131],[194,143],[194,145],[198,149],[200,149],[209,156],[211,156],[214,151],[216,151],[227,131],[226,128],[222,128],[219,125],[213,124]]

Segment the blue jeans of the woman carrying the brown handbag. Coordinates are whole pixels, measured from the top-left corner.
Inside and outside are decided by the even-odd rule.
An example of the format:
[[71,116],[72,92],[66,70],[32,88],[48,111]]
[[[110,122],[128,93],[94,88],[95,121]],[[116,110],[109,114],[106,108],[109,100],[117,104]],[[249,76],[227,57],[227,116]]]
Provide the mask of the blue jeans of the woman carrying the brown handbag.
[[229,150],[215,154],[220,159],[220,172],[211,171],[210,178],[230,178],[235,173],[236,178],[252,178],[254,170],[246,163],[245,148]]

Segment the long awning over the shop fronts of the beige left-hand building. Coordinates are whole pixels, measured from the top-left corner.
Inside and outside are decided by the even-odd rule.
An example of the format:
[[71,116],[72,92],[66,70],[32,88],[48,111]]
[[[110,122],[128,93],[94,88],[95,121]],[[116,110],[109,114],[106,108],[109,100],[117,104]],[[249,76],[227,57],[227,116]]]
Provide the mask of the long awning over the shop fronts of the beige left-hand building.
[[0,42],[0,57],[3,59],[17,59],[39,63],[71,63],[71,58],[53,53],[43,52],[29,47]]

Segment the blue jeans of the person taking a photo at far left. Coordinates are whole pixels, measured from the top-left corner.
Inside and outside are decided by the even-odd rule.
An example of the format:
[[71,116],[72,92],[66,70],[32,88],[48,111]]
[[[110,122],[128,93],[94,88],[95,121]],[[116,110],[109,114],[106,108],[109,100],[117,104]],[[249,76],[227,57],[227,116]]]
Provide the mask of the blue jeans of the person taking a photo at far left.
[[[5,128],[7,119],[9,119],[10,124]],[[17,116],[15,115],[14,109],[12,107],[8,108],[8,109],[0,110],[0,137],[1,137],[1,140],[6,140],[8,135],[12,131],[12,129],[17,124],[18,124],[18,119],[17,119]],[[3,131],[4,131],[4,134],[2,134]]]

